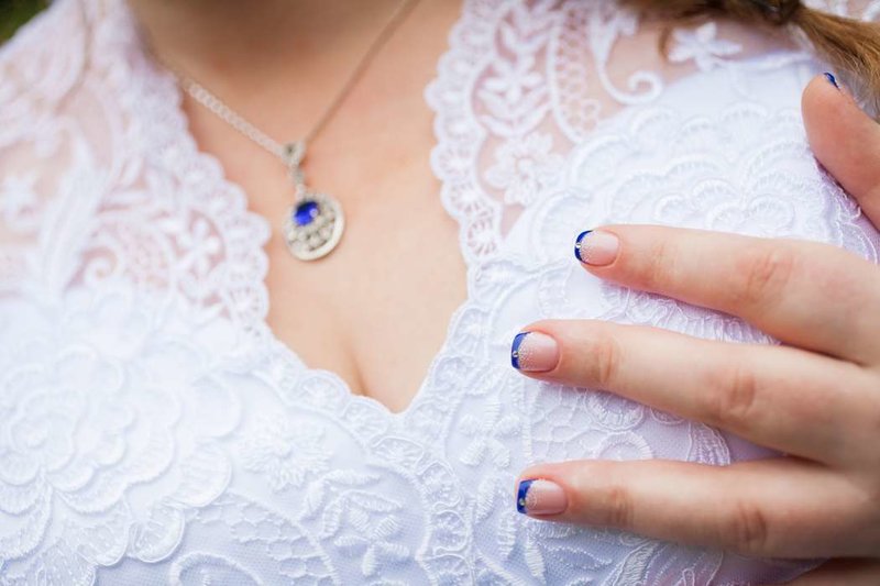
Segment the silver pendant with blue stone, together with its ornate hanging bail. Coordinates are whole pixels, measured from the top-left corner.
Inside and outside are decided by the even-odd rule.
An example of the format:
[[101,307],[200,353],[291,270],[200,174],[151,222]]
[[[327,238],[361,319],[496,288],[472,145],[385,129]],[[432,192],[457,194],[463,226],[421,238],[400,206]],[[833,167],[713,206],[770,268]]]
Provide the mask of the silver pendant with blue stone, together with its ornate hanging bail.
[[296,190],[294,206],[284,220],[287,248],[300,261],[323,258],[333,252],[345,230],[342,206],[327,194],[312,191],[306,185],[306,174],[300,166],[306,157],[305,142],[286,144],[280,155]]

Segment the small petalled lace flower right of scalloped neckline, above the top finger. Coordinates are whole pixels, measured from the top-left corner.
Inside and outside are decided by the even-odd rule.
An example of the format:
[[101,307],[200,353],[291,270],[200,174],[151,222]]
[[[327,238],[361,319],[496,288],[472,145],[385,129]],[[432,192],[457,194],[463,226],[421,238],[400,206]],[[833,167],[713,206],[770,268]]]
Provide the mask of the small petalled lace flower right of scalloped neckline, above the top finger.
[[495,152],[495,165],[486,170],[486,180],[504,189],[505,203],[529,206],[562,168],[562,156],[551,153],[552,147],[549,134],[507,140]]

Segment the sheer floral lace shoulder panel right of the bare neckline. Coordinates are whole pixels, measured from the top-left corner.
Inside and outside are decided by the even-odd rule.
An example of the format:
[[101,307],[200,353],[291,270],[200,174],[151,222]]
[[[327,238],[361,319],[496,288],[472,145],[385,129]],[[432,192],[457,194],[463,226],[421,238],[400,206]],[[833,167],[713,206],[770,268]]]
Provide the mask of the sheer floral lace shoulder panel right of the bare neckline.
[[[813,0],[820,10],[873,20],[877,0]],[[672,33],[669,63],[639,69],[639,59],[615,56],[620,45],[654,47],[657,31],[613,2],[554,0],[471,2],[474,20],[452,33],[452,49],[427,97],[440,137],[433,168],[442,198],[460,223],[470,263],[495,256],[519,213],[559,186],[558,157],[624,108],[657,102],[670,84],[695,71],[722,68],[733,89],[748,97],[750,75],[807,62],[792,34],[790,47],[744,59],[737,32],[707,22]],[[634,67],[634,63],[636,67]],[[469,88],[470,96],[461,96]],[[475,174],[484,161],[494,161]]]

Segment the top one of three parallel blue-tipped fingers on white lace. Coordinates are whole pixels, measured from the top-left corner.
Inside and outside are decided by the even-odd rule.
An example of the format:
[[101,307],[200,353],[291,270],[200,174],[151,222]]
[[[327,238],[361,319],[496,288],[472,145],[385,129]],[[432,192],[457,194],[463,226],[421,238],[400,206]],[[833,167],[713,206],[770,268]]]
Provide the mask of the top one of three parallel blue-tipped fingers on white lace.
[[880,360],[880,272],[834,246],[645,225],[579,244],[601,278],[739,316],[792,345]]

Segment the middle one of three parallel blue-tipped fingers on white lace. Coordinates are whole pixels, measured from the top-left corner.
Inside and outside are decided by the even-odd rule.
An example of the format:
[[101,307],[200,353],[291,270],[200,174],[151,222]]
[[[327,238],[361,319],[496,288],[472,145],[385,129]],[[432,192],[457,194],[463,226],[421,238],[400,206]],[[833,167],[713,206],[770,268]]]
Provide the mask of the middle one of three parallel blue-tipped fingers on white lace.
[[514,349],[526,374],[609,390],[812,460],[849,463],[871,441],[880,412],[859,366],[792,347],[591,320],[527,331]]

